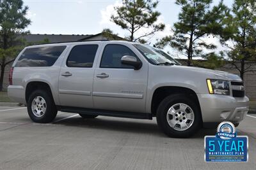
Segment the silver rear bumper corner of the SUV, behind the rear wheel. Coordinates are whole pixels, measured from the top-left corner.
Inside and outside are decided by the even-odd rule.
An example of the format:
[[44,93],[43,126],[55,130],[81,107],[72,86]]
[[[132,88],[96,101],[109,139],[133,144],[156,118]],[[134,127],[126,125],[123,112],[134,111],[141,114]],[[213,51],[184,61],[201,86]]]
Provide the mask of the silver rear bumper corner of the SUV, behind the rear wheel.
[[24,87],[20,85],[9,85],[7,88],[7,94],[13,101],[26,104]]

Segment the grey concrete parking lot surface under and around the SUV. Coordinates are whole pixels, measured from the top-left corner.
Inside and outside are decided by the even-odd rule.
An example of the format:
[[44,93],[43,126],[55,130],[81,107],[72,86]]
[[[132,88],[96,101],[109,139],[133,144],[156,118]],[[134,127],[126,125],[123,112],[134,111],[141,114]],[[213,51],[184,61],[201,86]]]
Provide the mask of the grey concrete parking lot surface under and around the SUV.
[[167,138],[154,120],[58,112],[51,124],[31,122],[26,108],[0,107],[0,169],[255,169],[256,115],[237,127],[249,138],[244,163],[204,161],[202,129],[188,139]]

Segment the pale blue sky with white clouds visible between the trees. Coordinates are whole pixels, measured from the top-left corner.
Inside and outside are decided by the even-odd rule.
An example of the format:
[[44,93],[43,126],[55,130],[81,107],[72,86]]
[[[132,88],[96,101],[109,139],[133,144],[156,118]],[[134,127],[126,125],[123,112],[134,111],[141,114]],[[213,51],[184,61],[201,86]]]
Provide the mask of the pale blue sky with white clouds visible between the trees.
[[[220,0],[213,0],[218,4]],[[97,34],[109,28],[119,36],[127,36],[128,32],[120,29],[110,21],[114,6],[120,5],[117,0],[24,0],[29,7],[28,18],[31,25],[28,30],[32,34]],[[231,6],[233,0],[224,0]],[[166,25],[164,31],[157,32],[149,41],[156,41],[172,34],[173,23],[177,22],[180,8],[175,0],[159,0],[157,11],[161,16],[157,20]],[[141,30],[138,34],[142,34]],[[218,43],[217,39],[209,41]]]

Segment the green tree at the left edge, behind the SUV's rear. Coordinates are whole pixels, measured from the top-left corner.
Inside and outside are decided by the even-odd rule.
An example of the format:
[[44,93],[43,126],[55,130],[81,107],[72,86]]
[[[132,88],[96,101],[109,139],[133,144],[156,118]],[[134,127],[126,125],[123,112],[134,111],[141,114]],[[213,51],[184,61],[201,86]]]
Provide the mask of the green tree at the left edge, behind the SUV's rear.
[[22,0],[0,1],[0,91],[3,90],[4,69],[20,50],[18,35],[26,33],[24,29],[30,24],[26,18],[28,6]]

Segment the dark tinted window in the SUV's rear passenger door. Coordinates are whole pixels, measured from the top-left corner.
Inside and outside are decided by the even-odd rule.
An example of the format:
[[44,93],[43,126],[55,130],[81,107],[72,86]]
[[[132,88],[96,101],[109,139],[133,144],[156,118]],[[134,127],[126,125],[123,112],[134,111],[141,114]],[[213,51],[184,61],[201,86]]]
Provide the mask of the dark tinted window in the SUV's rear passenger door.
[[92,67],[98,45],[76,45],[68,55],[68,67]]

